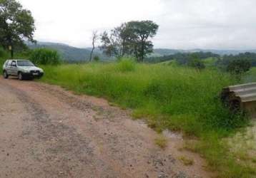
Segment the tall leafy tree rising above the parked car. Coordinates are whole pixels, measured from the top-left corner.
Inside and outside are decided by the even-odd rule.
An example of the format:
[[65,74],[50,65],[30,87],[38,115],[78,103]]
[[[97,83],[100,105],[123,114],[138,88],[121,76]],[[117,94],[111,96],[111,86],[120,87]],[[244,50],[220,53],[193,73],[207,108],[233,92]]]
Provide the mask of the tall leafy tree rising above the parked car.
[[34,18],[31,11],[23,9],[15,0],[0,0],[0,43],[9,48],[11,58],[14,48],[24,48],[24,40],[34,41]]

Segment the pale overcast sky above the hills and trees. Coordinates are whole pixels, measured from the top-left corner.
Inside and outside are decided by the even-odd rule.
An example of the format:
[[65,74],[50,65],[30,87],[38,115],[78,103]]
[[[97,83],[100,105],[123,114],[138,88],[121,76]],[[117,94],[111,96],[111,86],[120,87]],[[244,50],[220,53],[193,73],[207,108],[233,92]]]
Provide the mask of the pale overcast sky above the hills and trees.
[[256,49],[256,0],[19,0],[37,41],[89,47],[92,31],[131,20],[159,24],[156,48]]

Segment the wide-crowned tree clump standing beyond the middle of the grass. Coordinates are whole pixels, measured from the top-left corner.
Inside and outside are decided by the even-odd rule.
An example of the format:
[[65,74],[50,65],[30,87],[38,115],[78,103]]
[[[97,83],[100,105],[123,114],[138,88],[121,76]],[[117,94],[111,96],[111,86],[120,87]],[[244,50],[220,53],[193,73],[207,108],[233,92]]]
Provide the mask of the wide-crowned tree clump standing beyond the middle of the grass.
[[134,56],[143,62],[144,57],[153,51],[153,38],[158,25],[152,21],[129,21],[114,28],[111,33],[102,33],[101,41],[104,53],[109,56]]

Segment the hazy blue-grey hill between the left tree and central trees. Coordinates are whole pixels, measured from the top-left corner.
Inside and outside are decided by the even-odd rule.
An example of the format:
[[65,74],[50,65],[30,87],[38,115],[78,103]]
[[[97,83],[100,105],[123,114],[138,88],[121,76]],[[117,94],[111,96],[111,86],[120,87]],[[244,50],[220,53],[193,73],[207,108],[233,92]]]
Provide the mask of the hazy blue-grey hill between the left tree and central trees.
[[[37,42],[36,44],[27,43],[29,48],[53,48],[59,51],[64,61],[88,61],[91,53],[91,48],[76,48],[68,46],[63,43],[49,43]],[[99,48],[95,49],[94,56],[99,56],[102,60],[107,60],[109,57],[105,56]]]

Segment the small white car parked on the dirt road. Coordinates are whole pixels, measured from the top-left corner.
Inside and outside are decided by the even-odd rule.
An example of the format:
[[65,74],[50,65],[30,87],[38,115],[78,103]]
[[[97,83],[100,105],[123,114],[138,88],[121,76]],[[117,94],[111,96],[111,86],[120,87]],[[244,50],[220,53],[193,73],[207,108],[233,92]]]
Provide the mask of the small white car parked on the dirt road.
[[4,78],[8,78],[9,75],[17,76],[19,80],[24,80],[25,78],[41,78],[44,75],[44,70],[37,68],[29,60],[16,60],[9,59],[6,60],[3,66]]

